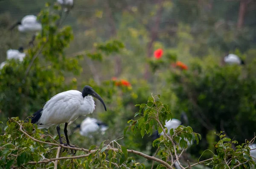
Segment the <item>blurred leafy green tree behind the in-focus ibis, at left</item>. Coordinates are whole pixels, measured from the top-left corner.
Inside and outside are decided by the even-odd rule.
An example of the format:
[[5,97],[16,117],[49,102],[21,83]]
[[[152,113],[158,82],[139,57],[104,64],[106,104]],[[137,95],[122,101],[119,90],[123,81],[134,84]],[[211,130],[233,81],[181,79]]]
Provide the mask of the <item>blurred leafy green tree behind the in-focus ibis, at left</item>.
[[79,74],[81,67],[75,57],[64,54],[73,33],[70,26],[58,29],[61,19],[58,11],[59,8],[41,11],[38,19],[43,29],[36,36],[36,45],[25,51],[23,62],[9,60],[1,69],[2,118],[17,115],[25,118],[40,109],[52,95],[76,87],[75,82],[64,83],[64,71]]

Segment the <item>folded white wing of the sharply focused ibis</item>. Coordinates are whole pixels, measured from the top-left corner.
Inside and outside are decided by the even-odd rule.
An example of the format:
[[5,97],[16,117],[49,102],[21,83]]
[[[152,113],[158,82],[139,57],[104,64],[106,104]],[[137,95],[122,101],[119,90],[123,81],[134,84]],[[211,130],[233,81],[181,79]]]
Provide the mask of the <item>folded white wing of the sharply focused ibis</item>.
[[77,90],[55,95],[44,105],[41,118],[37,123],[38,129],[73,122],[79,117],[79,107],[82,101],[82,94]]

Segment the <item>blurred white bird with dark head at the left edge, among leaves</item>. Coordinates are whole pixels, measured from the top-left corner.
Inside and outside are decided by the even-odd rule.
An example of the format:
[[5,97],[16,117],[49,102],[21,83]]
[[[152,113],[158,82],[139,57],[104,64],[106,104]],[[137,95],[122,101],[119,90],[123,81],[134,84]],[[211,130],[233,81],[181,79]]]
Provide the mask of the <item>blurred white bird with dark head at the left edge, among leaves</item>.
[[[6,59],[15,59],[19,61],[23,61],[23,58],[26,56],[26,54],[23,52],[23,47],[20,47],[18,50],[15,49],[9,49],[6,52]],[[0,64],[0,69],[3,69],[3,66],[7,64],[7,61],[4,61]]]

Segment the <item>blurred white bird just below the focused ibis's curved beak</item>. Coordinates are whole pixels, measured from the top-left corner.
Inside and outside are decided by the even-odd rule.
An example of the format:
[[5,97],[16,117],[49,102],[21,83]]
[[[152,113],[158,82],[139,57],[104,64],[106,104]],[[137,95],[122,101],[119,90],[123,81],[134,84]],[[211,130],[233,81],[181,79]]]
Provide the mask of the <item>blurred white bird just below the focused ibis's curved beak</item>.
[[92,137],[91,134],[99,130],[101,134],[104,135],[105,131],[108,129],[108,125],[96,118],[86,117],[81,125],[77,125],[76,128],[80,128],[80,135]]

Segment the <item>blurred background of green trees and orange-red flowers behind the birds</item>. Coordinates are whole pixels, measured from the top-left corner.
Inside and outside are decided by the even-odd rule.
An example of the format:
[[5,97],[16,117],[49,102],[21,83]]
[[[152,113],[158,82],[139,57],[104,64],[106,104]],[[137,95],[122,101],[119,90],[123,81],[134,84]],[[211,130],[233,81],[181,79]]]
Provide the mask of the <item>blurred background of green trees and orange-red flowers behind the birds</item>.
[[[59,92],[90,85],[108,109],[96,101],[90,117],[109,128],[81,136],[74,129],[85,118],[79,117],[69,135],[71,143],[84,148],[122,137],[127,121],[136,118],[134,105],[146,103],[151,93],[161,95],[174,118],[180,120],[186,112],[189,126],[202,135],[187,150],[191,161],[205,149],[215,151],[214,132],[225,131],[239,143],[254,137],[256,0],[74,0],[73,9],[61,15],[61,26],[53,24],[54,17],[46,19],[52,14],[47,7],[55,3],[0,0],[0,63],[9,49],[23,46],[26,53],[22,63],[13,61],[1,69],[1,121],[25,120]],[[9,30],[30,14],[38,15],[43,25],[35,46],[28,45],[31,33]],[[52,29],[61,30],[53,43],[44,39]],[[245,65],[225,62],[228,54]],[[119,142],[150,154],[149,135],[141,138],[128,131]],[[207,151],[201,160],[211,157]]]

